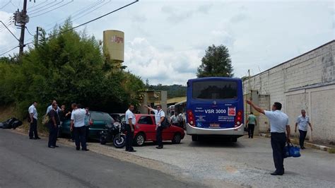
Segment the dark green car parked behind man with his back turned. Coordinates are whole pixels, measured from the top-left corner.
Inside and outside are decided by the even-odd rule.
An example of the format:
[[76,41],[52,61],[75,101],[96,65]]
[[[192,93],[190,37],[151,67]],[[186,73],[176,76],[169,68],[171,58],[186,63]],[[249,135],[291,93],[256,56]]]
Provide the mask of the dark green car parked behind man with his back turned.
[[[95,111],[89,111],[90,116],[89,124],[90,124],[90,134],[88,135],[89,139],[100,139],[100,132],[102,130],[106,129],[106,126],[111,126],[114,124],[114,119],[110,116],[110,114],[107,114],[105,112],[95,112]],[[70,122],[71,120],[65,120],[63,124],[59,127],[59,135],[65,136],[70,135]]]

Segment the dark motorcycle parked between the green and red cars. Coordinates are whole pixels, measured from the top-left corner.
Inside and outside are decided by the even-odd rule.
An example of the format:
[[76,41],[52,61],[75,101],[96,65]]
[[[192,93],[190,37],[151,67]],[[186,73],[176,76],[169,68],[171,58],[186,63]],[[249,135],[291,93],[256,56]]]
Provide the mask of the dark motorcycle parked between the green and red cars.
[[107,142],[113,141],[115,148],[123,148],[126,146],[125,132],[125,125],[120,122],[106,124],[106,129],[100,133],[100,143],[105,145]]

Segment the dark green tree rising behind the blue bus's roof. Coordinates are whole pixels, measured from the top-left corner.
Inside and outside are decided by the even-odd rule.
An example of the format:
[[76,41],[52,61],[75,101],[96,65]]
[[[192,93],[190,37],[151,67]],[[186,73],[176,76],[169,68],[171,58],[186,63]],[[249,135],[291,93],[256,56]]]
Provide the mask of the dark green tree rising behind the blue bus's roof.
[[233,77],[233,66],[228,52],[224,45],[209,46],[205,56],[201,59],[201,65],[196,73],[201,77]]

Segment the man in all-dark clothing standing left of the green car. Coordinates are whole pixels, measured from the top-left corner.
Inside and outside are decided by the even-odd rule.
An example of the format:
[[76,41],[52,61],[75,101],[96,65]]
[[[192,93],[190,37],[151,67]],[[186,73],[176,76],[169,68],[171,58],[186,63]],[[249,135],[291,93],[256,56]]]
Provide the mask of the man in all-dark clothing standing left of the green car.
[[49,115],[49,148],[58,147],[56,145],[57,142],[57,134],[58,134],[58,127],[61,124],[61,120],[59,118],[59,114],[57,112],[58,105],[57,103],[52,104],[52,110],[48,113]]

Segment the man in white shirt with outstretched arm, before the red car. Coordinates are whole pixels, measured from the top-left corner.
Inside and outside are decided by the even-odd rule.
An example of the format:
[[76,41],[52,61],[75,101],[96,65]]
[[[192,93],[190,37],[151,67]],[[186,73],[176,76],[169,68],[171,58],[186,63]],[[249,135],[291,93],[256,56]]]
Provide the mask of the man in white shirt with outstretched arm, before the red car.
[[161,124],[164,121],[165,113],[162,110],[162,105],[157,105],[157,110],[153,109],[152,107],[148,107],[147,105],[144,105],[144,107],[147,107],[148,110],[151,110],[152,112],[155,113],[156,141],[158,144],[156,148],[163,149],[163,139],[162,139],[163,127],[161,126]]

